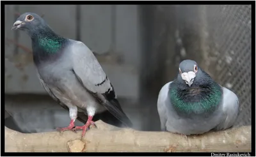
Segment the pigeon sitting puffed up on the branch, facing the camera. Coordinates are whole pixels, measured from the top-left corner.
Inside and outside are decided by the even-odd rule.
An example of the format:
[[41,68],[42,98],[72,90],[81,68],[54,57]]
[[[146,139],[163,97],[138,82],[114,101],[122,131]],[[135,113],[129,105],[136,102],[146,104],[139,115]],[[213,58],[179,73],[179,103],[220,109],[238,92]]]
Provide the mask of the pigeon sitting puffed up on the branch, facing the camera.
[[159,91],[157,110],[162,131],[186,137],[234,126],[239,99],[195,61],[186,59],[179,64],[177,78]]

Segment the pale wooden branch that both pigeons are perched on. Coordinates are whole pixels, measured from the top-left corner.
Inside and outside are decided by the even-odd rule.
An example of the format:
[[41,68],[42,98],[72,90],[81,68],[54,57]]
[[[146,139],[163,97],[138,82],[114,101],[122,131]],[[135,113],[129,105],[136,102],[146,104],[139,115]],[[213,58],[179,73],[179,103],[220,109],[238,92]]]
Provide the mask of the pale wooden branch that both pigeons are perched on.
[[98,129],[24,134],[5,128],[6,152],[250,152],[252,127],[188,136],[119,129],[97,121]]

